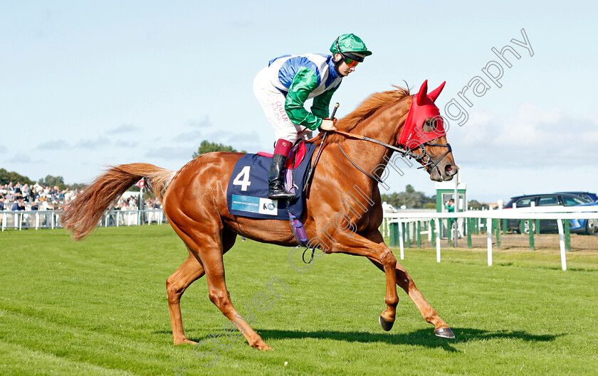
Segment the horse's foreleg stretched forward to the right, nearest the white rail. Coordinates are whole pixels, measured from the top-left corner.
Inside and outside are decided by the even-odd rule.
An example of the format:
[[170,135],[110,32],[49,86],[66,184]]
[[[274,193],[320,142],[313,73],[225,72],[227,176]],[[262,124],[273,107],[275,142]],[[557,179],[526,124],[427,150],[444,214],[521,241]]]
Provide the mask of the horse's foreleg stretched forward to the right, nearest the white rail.
[[[384,245],[384,240],[382,239],[382,234],[379,231],[372,232],[369,234],[369,239],[374,240],[379,245]],[[380,270],[386,273],[386,266],[378,262],[377,259],[372,257],[368,257],[369,261],[371,261],[374,265],[376,265]],[[417,309],[421,313],[421,316],[428,322],[434,325],[434,334],[438,335],[439,337],[444,338],[455,338],[453,331],[451,328],[442,320],[436,310],[430,306],[428,301],[424,299],[424,296],[421,295],[421,292],[415,286],[415,282],[409,276],[409,273],[405,270],[405,268],[397,261],[397,265],[395,266],[395,275],[397,278],[397,284],[409,295],[409,298],[414,302]]]

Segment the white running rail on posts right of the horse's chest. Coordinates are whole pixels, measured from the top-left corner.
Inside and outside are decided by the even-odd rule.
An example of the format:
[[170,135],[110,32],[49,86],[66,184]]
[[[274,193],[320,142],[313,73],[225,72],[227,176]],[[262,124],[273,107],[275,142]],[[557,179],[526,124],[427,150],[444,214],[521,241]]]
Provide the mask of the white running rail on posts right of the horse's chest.
[[[492,228],[491,222],[493,219],[518,219],[518,220],[557,220],[557,227],[559,231],[559,243],[561,254],[561,267],[567,270],[567,259],[565,257],[565,235],[561,220],[577,220],[577,219],[598,219],[598,206],[586,207],[535,207],[535,208],[517,208],[517,209],[503,209],[503,210],[468,210],[460,213],[384,213],[386,223],[383,226],[383,232],[389,234],[389,225],[392,223],[399,224],[399,252],[401,259],[404,259],[404,245],[402,233],[402,224],[419,221],[432,221],[435,223],[436,234],[436,262],[440,262],[440,220],[442,218],[478,218],[478,220],[486,221],[486,228]],[[431,228],[431,226],[429,226]],[[492,266],[492,231],[488,233],[488,266]],[[429,237],[432,236],[431,230],[427,232]]]

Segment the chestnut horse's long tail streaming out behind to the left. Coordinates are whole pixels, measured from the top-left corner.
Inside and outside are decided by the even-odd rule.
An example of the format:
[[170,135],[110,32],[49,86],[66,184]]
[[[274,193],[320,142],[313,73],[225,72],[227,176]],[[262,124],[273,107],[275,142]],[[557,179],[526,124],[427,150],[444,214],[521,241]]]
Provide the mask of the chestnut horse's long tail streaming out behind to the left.
[[61,216],[62,225],[74,240],[82,240],[98,225],[112,203],[141,178],[146,178],[154,195],[162,201],[175,174],[174,171],[148,163],[112,166],[65,206]]

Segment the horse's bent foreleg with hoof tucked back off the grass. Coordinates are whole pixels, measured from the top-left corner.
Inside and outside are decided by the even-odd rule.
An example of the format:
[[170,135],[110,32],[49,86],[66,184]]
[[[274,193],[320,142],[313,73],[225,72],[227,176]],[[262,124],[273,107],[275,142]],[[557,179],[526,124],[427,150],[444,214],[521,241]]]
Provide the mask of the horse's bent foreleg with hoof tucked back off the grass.
[[332,244],[329,252],[354,254],[364,256],[368,259],[376,260],[382,265],[384,274],[386,274],[386,294],[384,302],[387,308],[382,311],[379,323],[384,331],[389,331],[394,324],[394,318],[397,315],[397,304],[399,296],[397,295],[397,274],[394,267],[397,265],[397,259],[391,250],[385,245],[380,245],[360,235],[353,235],[350,238],[340,235],[344,239],[339,239]]

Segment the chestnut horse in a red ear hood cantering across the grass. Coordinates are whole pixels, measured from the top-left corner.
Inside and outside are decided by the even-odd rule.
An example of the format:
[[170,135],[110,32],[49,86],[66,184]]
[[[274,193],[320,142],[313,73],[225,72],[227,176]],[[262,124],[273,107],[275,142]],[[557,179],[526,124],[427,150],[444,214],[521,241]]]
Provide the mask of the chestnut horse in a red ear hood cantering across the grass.
[[[434,325],[436,335],[454,338],[449,326],[439,318],[384,244],[379,232],[383,214],[378,189],[381,181],[379,171],[384,172],[384,167],[397,149],[411,102],[418,95],[426,95],[427,90],[426,82],[416,96],[409,95],[409,90],[396,88],[375,93],[364,100],[354,112],[337,122],[336,127],[340,132],[328,134],[323,141],[322,137],[315,139],[316,145],[323,146],[310,183],[302,220],[308,237],[318,239],[318,247],[324,252],[364,256],[384,272],[384,301],[387,308],[379,317],[384,330],[389,331],[394,323],[399,302],[398,285],[414,301],[426,321]],[[429,94],[431,102],[436,100],[441,88],[442,85]],[[434,104],[432,106],[439,113],[438,108]],[[431,127],[431,118],[425,120],[417,126],[430,131],[425,128]],[[355,136],[347,136],[347,133],[342,132]],[[369,142],[372,140],[378,143]],[[446,136],[439,136],[436,140],[436,144],[426,142],[413,151],[408,150],[406,154],[419,158],[419,163],[426,166],[430,173],[431,180],[451,180],[457,168],[450,146],[449,151],[444,147],[448,146]],[[414,154],[415,151],[419,151],[419,154]],[[127,188],[141,178],[146,179],[152,192],[163,203],[168,222],[189,250],[187,260],[166,281],[175,345],[195,343],[184,334],[179,301],[185,289],[205,274],[212,303],[226,318],[236,320],[238,329],[249,345],[260,350],[271,350],[248,323],[237,319],[239,316],[226,290],[223,254],[233,247],[236,235],[286,247],[296,246],[297,243],[287,220],[236,217],[229,213],[226,187],[234,165],[242,155],[228,152],[203,154],[177,172],[147,163],[112,167],[85,188],[65,208],[61,218],[73,239],[81,240],[98,225],[103,213]],[[362,197],[366,197],[364,201],[369,205],[367,210],[357,210],[366,206],[355,203],[357,190],[360,190]],[[339,213],[342,215],[339,216]],[[331,226],[332,223],[335,225]],[[350,237],[346,230],[349,227],[355,230]]]

